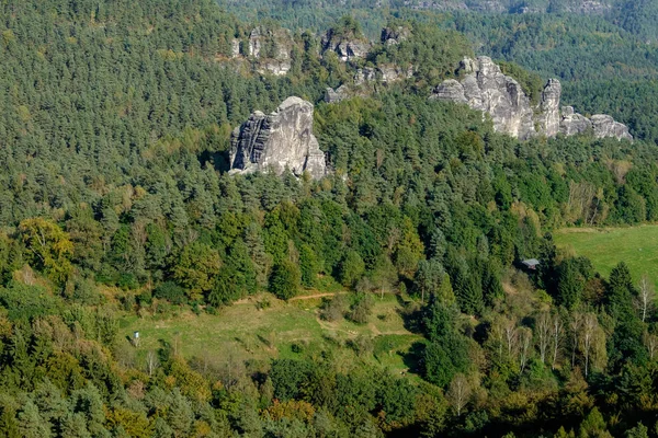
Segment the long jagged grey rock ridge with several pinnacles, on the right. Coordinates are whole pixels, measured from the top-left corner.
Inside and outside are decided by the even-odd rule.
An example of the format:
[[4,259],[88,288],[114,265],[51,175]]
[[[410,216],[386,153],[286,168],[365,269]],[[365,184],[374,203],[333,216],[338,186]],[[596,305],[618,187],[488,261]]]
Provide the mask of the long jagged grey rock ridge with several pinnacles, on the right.
[[494,128],[512,137],[527,139],[536,135],[572,136],[592,128],[597,138],[614,137],[632,140],[628,128],[611,116],[587,118],[566,106],[560,112],[561,85],[551,79],[544,87],[538,105],[531,104],[521,85],[501,72],[486,56],[464,58],[460,64],[461,81],[449,79],[434,88],[430,99],[465,103],[488,114]]

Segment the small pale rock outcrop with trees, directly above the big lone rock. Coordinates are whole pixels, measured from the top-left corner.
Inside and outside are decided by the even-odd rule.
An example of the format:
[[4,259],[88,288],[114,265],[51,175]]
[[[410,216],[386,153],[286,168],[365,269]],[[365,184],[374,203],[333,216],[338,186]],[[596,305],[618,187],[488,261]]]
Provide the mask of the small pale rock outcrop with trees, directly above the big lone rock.
[[284,76],[291,70],[293,37],[285,28],[256,27],[249,35],[249,57],[262,73]]

